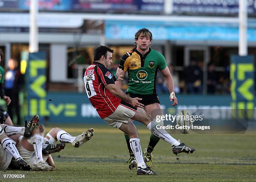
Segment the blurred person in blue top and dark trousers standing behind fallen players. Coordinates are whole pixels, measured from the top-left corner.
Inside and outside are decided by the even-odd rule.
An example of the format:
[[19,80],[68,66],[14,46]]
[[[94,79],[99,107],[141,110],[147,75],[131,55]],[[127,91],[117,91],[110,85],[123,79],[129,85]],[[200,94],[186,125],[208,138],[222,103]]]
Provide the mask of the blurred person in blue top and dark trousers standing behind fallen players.
[[10,59],[8,61],[8,70],[5,72],[5,94],[12,100],[8,105],[8,114],[13,120],[13,109],[17,116],[17,124],[20,125],[20,106],[19,106],[19,93],[23,86],[23,75],[18,69],[18,61]]

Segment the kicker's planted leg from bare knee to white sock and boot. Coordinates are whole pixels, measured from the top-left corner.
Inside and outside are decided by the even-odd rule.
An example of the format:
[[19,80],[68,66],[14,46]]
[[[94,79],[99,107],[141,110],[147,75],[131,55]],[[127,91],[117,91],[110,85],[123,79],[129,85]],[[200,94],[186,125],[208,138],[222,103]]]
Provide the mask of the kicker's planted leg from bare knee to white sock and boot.
[[136,126],[131,121],[128,121],[128,123],[123,123],[119,129],[124,133],[128,134],[128,136],[130,137],[131,149],[133,150],[133,154],[136,158],[138,165],[137,174],[156,175],[157,173],[148,168],[143,160],[141,142],[138,137],[138,131],[136,129]]

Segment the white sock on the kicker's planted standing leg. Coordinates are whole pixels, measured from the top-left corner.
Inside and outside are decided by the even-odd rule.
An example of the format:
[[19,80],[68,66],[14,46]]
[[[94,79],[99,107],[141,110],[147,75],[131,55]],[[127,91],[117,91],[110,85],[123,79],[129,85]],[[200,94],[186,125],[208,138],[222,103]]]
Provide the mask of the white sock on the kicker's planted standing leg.
[[142,152],[141,152],[140,139],[138,139],[138,138],[130,139],[130,146],[131,146],[131,149],[133,150],[133,154],[138,163],[138,167],[141,167],[142,169],[146,168],[146,164],[143,160],[143,156],[142,156]]

